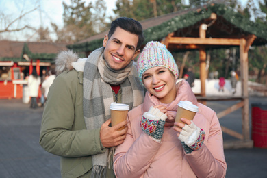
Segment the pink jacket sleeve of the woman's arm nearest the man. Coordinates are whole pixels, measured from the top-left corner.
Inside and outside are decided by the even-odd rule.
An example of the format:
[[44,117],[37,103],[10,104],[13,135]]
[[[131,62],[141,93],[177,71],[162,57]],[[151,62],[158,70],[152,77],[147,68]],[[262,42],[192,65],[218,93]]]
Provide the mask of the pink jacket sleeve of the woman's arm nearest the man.
[[147,170],[161,143],[144,132],[134,141],[131,123],[123,144],[116,148],[114,173],[116,177],[141,177]]

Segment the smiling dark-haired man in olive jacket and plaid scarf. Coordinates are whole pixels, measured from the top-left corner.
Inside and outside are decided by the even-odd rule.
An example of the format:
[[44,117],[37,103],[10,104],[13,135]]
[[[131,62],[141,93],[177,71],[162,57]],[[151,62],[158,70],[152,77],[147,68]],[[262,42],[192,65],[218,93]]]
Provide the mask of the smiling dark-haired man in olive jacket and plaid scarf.
[[[127,121],[109,127],[110,103],[140,105],[144,91],[133,60],[144,41],[142,26],[131,18],[112,22],[103,47],[87,60],[58,55],[42,116],[40,145],[61,156],[62,177],[115,177],[112,151],[123,143]],[[60,74],[61,73],[61,74]]]

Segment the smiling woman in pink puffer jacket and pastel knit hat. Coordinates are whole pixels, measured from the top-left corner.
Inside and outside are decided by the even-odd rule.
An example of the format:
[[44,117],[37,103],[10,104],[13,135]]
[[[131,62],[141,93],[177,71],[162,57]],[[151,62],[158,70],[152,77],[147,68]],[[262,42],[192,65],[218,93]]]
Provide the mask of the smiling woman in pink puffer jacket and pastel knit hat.
[[[188,82],[176,84],[178,68],[170,52],[160,42],[149,42],[137,67],[147,93],[144,103],[128,114],[127,137],[114,155],[116,176],[225,177],[223,133],[216,113],[197,103]],[[199,107],[194,120],[181,118],[186,125],[164,127],[166,119],[174,122],[177,103],[186,100]]]

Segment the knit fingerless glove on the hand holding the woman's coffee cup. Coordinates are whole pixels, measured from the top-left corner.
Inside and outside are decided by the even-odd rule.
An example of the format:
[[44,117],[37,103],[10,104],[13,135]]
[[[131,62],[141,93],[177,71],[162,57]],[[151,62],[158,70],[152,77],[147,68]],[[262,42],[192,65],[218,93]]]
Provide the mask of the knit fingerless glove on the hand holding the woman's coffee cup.
[[183,127],[178,137],[186,153],[191,153],[192,151],[200,149],[205,139],[205,131],[197,127],[193,121],[191,122],[190,125],[186,124],[185,127]]

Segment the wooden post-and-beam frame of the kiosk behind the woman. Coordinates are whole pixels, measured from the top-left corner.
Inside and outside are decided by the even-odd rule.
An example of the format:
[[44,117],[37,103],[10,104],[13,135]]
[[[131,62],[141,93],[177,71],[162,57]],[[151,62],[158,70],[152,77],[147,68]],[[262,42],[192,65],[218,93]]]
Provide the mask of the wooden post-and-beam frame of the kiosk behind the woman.
[[[206,101],[219,101],[219,100],[241,100],[239,103],[232,105],[227,110],[217,113],[218,118],[238,110],[242,107],[242,134],[228,129],[222,126],[223,132],[238,138],[240,142],[225,142],[225,148],[231,147],[253,147],[253,141],[250,140],[249,132],[249,91],[248,91],[248,51],[251,44],[257,38],[251,34],[244,36],[244,38],[206,38],[207,23],[214,23],[217,19],[217,15],[212,13],[210,18],[205,19],[199,25],[199,38],[179,37],[175,36],[175,33],[170,33],[162,43],[166,45],[168,49],[171,49],[170,45],[176,46],[178,49],[198,49],[199,50],[199,66],[200,66],[200,80],[201,80],[201,94],[197,99],[205,104]],[[239,46],[240,47],[240,64],[241,64],[241,83],[242,83],[242,97],[206,97],[205,93],[205,80],[206,80],[206,51],[207,46]],[[209,47],[210,48],[210,47]]]

